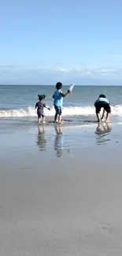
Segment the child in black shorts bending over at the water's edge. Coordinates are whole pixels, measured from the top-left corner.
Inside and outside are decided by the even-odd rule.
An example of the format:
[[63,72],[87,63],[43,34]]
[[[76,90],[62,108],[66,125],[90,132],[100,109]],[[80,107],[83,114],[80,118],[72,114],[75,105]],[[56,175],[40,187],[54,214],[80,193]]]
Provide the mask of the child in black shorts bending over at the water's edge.
[[[105,111],[107,112],[105,121],[106,122],[109,121],[109,116],[111,113],[111,108],[110,108],[109,104],[110,103],[109,103],[108,99],[105,97],[105,95],[99,95],[98,99],[94,103],[94,107],[96,108],[96,116],[98,118],[98,122],[102,121],[102,119],[104,118]],[[102,108],[103,108],[103,113],[102,113],[102,118],[100,119],[100,111]]]

